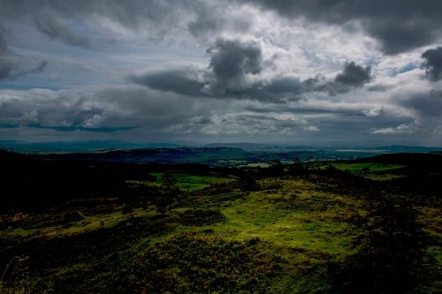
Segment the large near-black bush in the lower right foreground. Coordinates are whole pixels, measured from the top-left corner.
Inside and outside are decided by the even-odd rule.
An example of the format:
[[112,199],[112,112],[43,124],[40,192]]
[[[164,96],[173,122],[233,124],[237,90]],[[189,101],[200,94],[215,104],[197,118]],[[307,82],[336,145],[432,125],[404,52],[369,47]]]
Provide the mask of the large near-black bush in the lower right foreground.
[[334,289],[343,293],[404,293],[412,290],[426,248],[426,237],[406,202],[382,198],[369,215],[359,250],[331,265]]

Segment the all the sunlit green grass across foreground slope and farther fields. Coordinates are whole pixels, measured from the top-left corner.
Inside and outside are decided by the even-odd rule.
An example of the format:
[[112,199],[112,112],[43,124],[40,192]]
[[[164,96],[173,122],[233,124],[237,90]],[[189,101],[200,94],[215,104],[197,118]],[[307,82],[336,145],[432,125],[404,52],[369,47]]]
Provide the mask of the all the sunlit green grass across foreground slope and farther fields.
[[[338,165],[336,168],[339,170],[355,173],[368,168],[370,172],[366,174],[366,177],[372,177],[375,180],[400,177],[400,175],[395,175],[394,171],[403,167],[377,163],[339,162],[332,164]],[[377,172],[385,172],[385,174],[377,174]],[[157,181],[127,182],[137,185],[162,185],[164,173],[157,172],[150,173],[150,175],[155,176]],[[128,279],[131,283],[135,283],[134,281],[140,278],[136,273],[146,270],[143,267],[150,267],[149,276],[141,276],[141,278],[144,278],[146,283],[154,283],[155,279],[150,275],[161,277],[164,279],[164,290],[169,289],[167,288],[169,283],[173,283],[170,286],[178,287],[171,289],[178,290],[191,290],[199,287],[200,284],[196,285],[192,279],[187,278],[185,270],[193,270],[194,274],[201,270],[208,271],[210,273],[207,275],[208,279],[213,275],[237,287],[232,289],[241,290],[245,289],[241,288],[244,286],[241,281],[249,283],[249,276],[243,275],[241,271],[250,270],[250,276],[259,276],[263,285],[268,287],[261,291],[326,293],[330,290],[330,281],[327,280],[329,278],[327,262],[342,260],[348,254],[354,253],[355,249],[351,246],[352,240],[362,232],[351,219],[355,212],[359,215],[367,213],[364,200],[339,194],[339,192],[324,191],[321,183],[301,177],[258,179],[257,184],[261,189],[254,192],[241,191],[240,188],[230,184],[235,180],[234,177],[220,177],[215,173],[195,175],[172,172],[171,178],[173,185],[187,195],[187,199],[176,204],[161,217],[156,214],[155,207],[134,209],[135,218],[147,223],[140,229],[133,228],[136,225],[130,223],[128,215],[122,214],[121,205],[115,205],[113,211],[100,214],[88,211],[90,209],[88,207],[79,207],[75,210],[82,216],[78,222],[47,225],[39,229],[24,227],[4,229],[0,230],[0,235],[11,239],[16,237],[32,241],[38,237],[75,238],[102,229],[109,229],[110,232],[115,230],[116,236],[124,234],[126,230],[134,231],[128,233],[126,243],[115,245],[115,249],[112,249],[114,252],[103,253],[103,256],[88,253],[90,256],[88,254],[86,256],[89,256],[91,260],[73,259],[71,263],[63,264],[58,268],[48,268],[46,274],[50,273],[50,278],[43,276],[46,275],[44,273],[32,276],[29,283],[35,287],[40,287],[44,283],[50,284],[54,280],[55,286],[60,289],[63,289],[64,283],[73,285],[86,283],[100,290],[102,286],[100,283],[103,283],[103,287],[110,287],[109,281],[115,280],[116,283],[118,281],[123,283],[125,279]],[[214,191],[202,190],[217,184],[222,185],[219,192],[216,187]],[[204,216],[198,215],[204,209],[220,212],[223,217],[217,220],[200,217],[200,222],[197,224],[183,217],[183,215],[189,216],[190,214],[196,215],[195,218]],[[434,238],[440,237],[438,212],[439,209],[436,207],[420,207],[421,222],[424,223],[425,230]],[[65,212],[53,216],[62,217],[63,213]],[[33,220],[42,222],[46,216],[30,215],[29,217],[30,222]],[[192,220],[193,216],[189,217]],[[167,230],[155,234],[149,233],[150,225],[155,229],[155,225],[163,222]],[[122,225],[124,225],[123,229],[120,228]],[[259,240],[256,241],[257,245],[249,245],[254,240]],[[182,249],[181,247],[186,246],[188,242],[191,245]],[[228,248],[231,247],[239,248],[241,253],[248,254],[251,268],[241,265],[242,268],[237,273],[223,272],[223,268],[235,266],[234,262],[229,263],[229,259],[235,260],[229,255],[230,249]],[[200,249],[194,248],[207,251],[212,257],[203,256],[200,259],[197,256]],[[441,255],[438,249],[438,246],[432,246],[430,254],[440,264]],[[171,253],[176,253],[177,256]],[[178,255],[182,259],[179,259]],[[227,257],[224,259],[224,256]],[[161,259],[156,260],[156,257],[161,257]],[[219,267],[221,274],[210,272],[210,267],[219,266],[218,261],[225,262],[225,266]],[[164,268],[156,268],[156,262],[163,264]],[[271,274],[260,274],[260,262],[274,262],[275,268],[271,269]],[[116,270],[115,274],[111,273],[108,266]],[[277,266],[280,268],[278,269]],[[194,279],[201,277],[196,274],[194,276]],[[79,280],[76,281],[75,278]],[[206,280],[201,281],[201,284],[205,283],[210,285]],[[432,287],[436,289],[436,286]]]

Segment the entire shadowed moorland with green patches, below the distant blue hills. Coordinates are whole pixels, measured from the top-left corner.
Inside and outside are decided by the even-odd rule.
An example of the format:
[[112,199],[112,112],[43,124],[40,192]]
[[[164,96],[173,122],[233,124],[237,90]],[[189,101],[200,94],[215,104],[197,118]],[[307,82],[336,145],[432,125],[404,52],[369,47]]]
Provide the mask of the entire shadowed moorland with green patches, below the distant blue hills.
[[0,292],[441,289],[438,152],[263,167],[70,156],[1,152]]

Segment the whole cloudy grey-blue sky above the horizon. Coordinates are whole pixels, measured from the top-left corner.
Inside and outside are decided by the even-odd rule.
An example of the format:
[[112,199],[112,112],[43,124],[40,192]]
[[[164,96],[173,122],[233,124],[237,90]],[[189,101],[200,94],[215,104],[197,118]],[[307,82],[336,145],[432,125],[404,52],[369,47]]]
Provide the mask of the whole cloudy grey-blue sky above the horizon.
[[442,1],[0,0],[0,140],[442,146]]

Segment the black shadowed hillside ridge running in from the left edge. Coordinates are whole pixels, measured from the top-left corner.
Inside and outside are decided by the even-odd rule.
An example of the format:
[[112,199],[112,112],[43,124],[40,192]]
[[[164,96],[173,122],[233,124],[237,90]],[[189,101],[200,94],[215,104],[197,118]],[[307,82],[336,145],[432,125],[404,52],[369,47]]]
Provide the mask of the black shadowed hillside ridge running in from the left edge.
[[152,180],[153,170],[208,170],[198,164],[41,160],[3,150],[0,162],[0,210],[38,210],[67,200],[118,197],[126,192],[126,180]]

